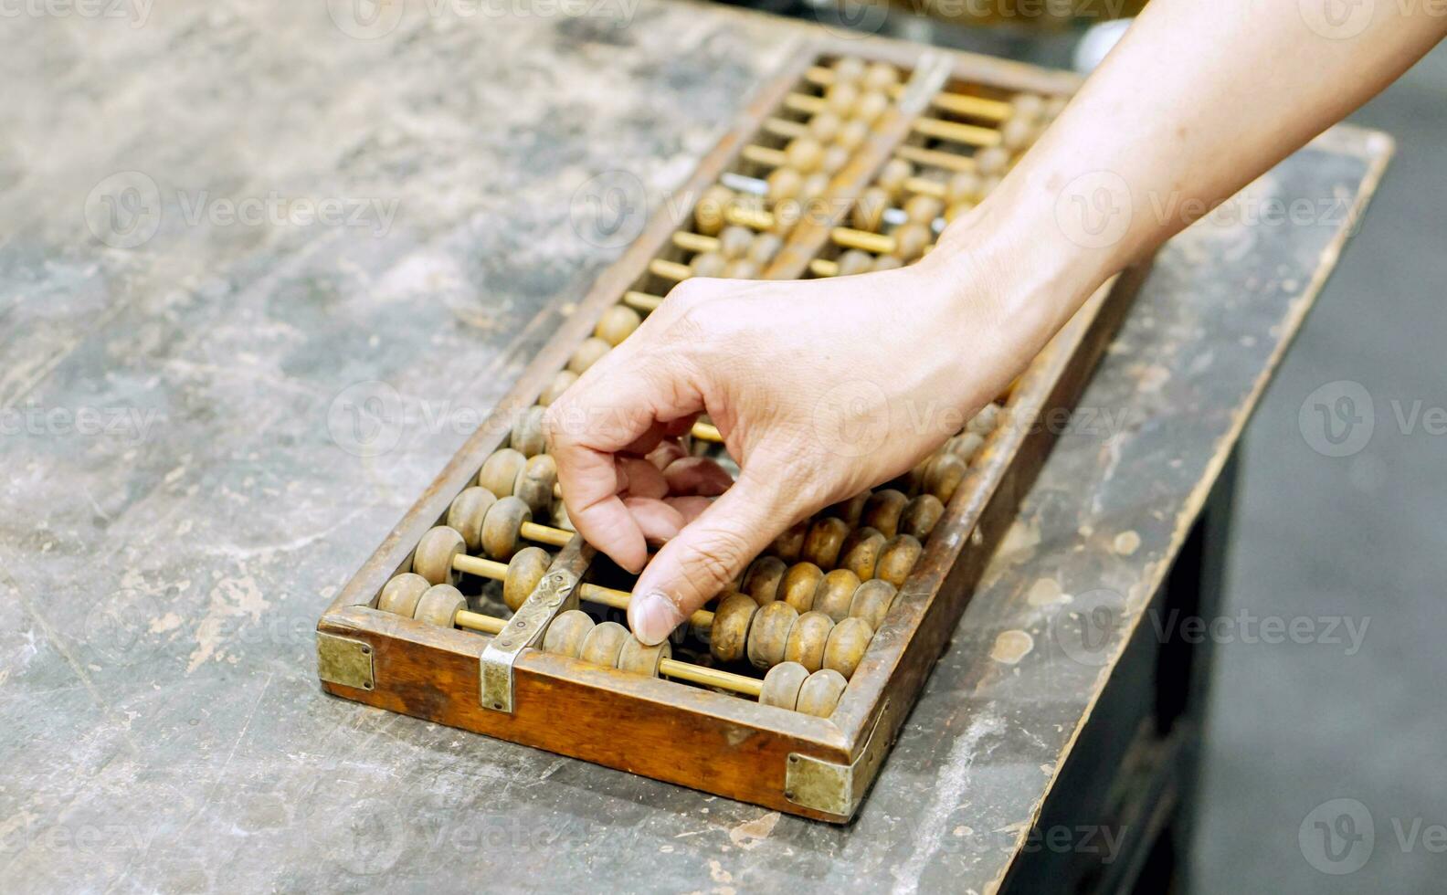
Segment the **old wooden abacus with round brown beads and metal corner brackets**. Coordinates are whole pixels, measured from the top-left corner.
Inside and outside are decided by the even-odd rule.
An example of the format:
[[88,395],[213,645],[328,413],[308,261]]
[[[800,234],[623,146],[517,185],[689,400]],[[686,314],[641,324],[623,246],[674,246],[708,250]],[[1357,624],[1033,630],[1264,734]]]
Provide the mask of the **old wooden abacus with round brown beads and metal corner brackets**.
[[[899,479],[794,525],[658,646],[572,531],[543,409],[690,276],[907,265],[1029,147],[1074,75],[810,43],[596,282],[318,623],[336,695],[848,821],[1143,275],[1103,286],[1007,395]],[[735,470],[700,421],[664,481]]]

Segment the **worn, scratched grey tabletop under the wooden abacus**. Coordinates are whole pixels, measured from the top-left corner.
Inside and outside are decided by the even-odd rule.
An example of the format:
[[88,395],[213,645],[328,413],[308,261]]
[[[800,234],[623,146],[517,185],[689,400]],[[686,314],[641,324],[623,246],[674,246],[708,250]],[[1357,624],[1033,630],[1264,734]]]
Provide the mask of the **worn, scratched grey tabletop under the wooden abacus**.
[[579,188],[667,201],[813,33],[586,6],[7,25],[4,889],[983,892],[1022,849],[1130,629],[1087,651],[1085,597],[1139,619],[1391,143],[1160,252],[857,823],[807,823],[315,681],[321,609],[616,257]]

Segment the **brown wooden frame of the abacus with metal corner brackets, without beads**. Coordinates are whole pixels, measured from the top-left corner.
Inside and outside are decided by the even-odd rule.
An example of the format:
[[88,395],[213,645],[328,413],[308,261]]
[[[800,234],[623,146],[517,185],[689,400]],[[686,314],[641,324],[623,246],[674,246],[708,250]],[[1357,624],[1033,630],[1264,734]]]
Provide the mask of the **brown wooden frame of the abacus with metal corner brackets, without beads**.
[[[764,272],[768,279],[806,273],[809,262],[825,249],[831,228],[910,136],[912,120],[946,81],[1045,97],[1068,95],[1078,85],[1065,72],[880,39],[812,43],[790,53],[792,62],[763,87],[679,194],[696,198],[718,182],[810,67],[818,59],[845,55],[890,62],[912,74],[899,101],[835,176],[829,200],[838,213],[828,220],[802,221]],[[1006,405],[1014,424],[996,428],[971,461],[965,481],[831,717],[589,665],[521,645],[506,656],[506,687],[499,690],[482,671],[482,654],[492,641],[378,612],[378,594],[392,575],[411,567],[412,549],[423,534],[473,483],[483,460],[504,445],[511,422],[537,401],[599,317],[669,247],[677,224],[669,208],[651,218],[336,597],[317,626],[318,674],[327,693],[381,708],[792,814],[848,821],[964,613],[991,547],[1014,518],[1051,447],[1051,427],[1024,422],[1074,405],[1124,315],[1145,266],[1103,286],[1016,383]],[[589,554],[577,539],[563,548],[508,630],[519,630],[525,625],[519,619],[541,617],[546,623],[556,612],[576,606],[573,591]],[[492,668],[496,672],[499,667]],[[498,697],[499,693],[505,695]],[[483,704],[485,700],[493,704]]]

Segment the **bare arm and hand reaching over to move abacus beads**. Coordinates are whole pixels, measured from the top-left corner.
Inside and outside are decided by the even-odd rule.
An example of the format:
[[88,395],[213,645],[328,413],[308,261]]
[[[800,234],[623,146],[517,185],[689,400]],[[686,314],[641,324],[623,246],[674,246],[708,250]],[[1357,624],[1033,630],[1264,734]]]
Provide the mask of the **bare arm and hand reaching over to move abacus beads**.
[[680,283],[547,418],[574,525],[631,570],[647,552],[619,499],[621,458],[708,412],[741,464],[642,570],[638,638],[661,641],[793,522],[933,451],[946,421],[997,395],[1106,278],[1421,58],[1447,32],[1431,9],[1155,0],[925,260]]

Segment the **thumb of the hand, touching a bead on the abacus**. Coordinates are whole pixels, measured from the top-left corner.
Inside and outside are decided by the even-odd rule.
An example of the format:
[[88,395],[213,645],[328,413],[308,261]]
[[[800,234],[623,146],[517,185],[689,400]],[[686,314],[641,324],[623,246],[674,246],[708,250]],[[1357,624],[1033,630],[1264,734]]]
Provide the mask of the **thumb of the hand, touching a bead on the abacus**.
[[634,635],[644,643],[661,643],[789,526],[789,512],[776,489],[741,476],[638,575],[628,603]]

